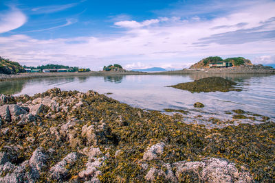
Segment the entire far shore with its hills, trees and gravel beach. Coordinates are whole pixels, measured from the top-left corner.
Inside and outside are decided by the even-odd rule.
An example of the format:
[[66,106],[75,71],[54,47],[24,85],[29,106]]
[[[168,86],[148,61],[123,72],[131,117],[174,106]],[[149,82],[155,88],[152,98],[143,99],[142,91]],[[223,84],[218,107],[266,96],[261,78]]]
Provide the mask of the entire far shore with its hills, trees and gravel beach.
[[[120,64],[110,64],[104,66],[102,71],[90,71],[90,69],[79,69],[78,66],[63,66],[58,64],[47,64],[42,66],[21,66],[18,62],[12,62],[9,59],[0,57],[0,81],[3,80],[18,80],[28,79],[34,77],[64,77],[64,76],[89,76],[89,75],[181,75],[181,74],[275,74],[275,69],[271,66],[263,66],[261,64],[254,65],[252,62],[245,58],[227,58],[223,60],[218,56],[203,58],[203,60],[190,66],[190,69],[182,69],[178,71],[162,71],[155,73],[139,72],[139,71],[126,71]],[[224,62],[224,63],[223,63]],[[230,63],[230,64],[229,64]],[[26,73],[30,69],[40,71],[36,73]],[[50,72],[41,73],[43,69],[72,69],[78,72]]]

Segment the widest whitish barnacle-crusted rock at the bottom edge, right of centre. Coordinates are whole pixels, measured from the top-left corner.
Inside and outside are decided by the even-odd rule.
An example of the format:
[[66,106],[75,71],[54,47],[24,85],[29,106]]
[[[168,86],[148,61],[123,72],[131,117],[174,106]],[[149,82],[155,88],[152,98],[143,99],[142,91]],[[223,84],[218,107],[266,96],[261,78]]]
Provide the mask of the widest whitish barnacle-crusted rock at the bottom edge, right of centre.
[[252,175],[245,169],[238,171],[234,163],[225,159],[210,158],[201,162],[175,162],[175,175],[179,182],[183,175],[192,175],[198,182],[252,182]]

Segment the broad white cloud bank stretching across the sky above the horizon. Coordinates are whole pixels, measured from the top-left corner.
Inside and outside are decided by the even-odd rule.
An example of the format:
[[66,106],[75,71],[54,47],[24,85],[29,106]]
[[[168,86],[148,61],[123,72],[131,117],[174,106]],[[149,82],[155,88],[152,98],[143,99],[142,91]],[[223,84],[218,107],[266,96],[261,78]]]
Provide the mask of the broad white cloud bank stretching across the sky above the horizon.
[[[0,37],[0,56],[33,65],[48,60],[90,66],[92,70],[113,63],[122,64],[127,69],[152,66],[182,69],[207,56],[273,56],[275,21],[270,20],[275,16],[274,10],[275,2],[268,1],[247,5],[215,19],[167,16],[141,22],[118,21],[115,25],[128,29],[122,30],[120,35],[106,37],[51,40],[23,35]],[[246,30],[245,34],[239,34],[243,30]],[[266,32],[270,34],[264,34]],[[217,41],[230,40],[229,33],[234,33],[234,40],[245,41],[234,44]],[[259,37],[245,38],[251,34]],[[214,37],[215,41],[211,39],[213,35],[218,35]],[[203,38],[209,38],[208,42],[201,42]],[[267,59],[255,62],[263,63]]]

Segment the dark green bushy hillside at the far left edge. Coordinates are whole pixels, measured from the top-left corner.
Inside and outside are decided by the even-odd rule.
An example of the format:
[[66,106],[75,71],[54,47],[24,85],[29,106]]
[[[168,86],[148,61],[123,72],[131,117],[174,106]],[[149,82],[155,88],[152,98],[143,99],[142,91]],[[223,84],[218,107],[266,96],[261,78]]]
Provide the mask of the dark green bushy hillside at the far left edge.
[[18,62],[12,62],[9,59],[0,57],[0,73],[1,74],[14,74],[24,73],[25,70]]

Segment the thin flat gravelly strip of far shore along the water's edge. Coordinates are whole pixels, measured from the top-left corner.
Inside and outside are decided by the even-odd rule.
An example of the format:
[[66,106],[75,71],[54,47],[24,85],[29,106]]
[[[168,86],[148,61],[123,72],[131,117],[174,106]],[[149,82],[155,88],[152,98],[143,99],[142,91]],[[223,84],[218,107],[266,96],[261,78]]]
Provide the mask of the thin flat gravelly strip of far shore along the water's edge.
[[39,77],[67,77],[67,76],[107,76],[107,75],[230,75],[230,74],[254,74],[254,75],[274,75],[275,69],[267,69],[265,66],[256,68],[255,66],[245,66],[238,68],[221,69],[183,69],[178,71],[164,72],[113,72],[113,71],[90,71],[83,73],[18,73],[5,75],[0,74],[0,82],[5,80],[21,80]]

